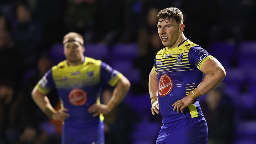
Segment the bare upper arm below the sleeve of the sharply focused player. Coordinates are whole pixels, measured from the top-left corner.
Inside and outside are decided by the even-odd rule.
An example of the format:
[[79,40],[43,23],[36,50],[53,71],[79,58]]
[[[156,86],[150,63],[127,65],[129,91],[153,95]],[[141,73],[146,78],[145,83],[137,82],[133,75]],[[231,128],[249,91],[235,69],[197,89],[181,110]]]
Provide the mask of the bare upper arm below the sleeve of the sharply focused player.
[[204,74],[211,74],[211,73],[214,73],[217,70],[225,71],[225,69],[221,65],[221,63],[216,58],[214,58],[214,57],[206,60],[200,70]]

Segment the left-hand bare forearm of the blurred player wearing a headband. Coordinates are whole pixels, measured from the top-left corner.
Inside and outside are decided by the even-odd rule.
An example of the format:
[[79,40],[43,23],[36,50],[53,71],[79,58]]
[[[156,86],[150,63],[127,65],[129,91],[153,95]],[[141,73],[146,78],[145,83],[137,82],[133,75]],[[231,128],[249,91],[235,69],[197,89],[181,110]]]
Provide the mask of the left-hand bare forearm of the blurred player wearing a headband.
[[50,104],[49,99],[47,96],[43,95],[41,92],[37,90],[37,88],[34,88],[32,91],[32,98],[35,101],[35,103],[38,105],[38,107],[50,118],[54,113],[56,113],[55,109]]

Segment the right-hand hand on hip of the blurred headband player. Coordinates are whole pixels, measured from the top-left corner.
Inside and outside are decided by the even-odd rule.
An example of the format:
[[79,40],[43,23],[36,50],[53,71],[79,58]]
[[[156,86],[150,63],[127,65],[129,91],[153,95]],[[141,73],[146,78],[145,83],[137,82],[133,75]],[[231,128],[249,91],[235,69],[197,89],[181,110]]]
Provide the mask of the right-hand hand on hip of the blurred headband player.
[[106,115],[110,112],[110,109],[108,108],[107,105],[104,104],[93,104],[88,108],[89,113],[94,113],[92,117],[96,117],[100,115],[101,113],[103,115]]

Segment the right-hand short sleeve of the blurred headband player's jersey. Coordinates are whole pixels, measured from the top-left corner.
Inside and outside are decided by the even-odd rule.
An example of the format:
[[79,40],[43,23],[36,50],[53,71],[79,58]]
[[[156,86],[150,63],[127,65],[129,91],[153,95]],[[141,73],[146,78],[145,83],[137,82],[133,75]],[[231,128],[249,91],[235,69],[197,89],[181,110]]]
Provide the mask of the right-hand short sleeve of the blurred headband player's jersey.
[[100,78],[103,84],[115,86],[123,75],[108,64],[101,62]]

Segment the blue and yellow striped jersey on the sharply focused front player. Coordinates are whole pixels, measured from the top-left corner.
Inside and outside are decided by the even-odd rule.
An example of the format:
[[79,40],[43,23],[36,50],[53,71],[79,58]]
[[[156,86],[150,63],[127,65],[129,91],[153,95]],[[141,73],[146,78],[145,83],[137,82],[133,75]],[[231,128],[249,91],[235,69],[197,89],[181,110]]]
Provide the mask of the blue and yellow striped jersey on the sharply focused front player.
[[158,102],[163,124],[203,115],[198,100],[186,107],[184,114],[173,111],[172,104],[199,85],[203,78],[200,69],[212,57],[189,39],[175,48],[165,47],[156,54],[154,70],[157,74]]

